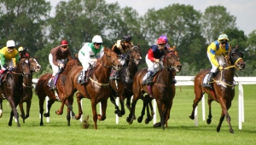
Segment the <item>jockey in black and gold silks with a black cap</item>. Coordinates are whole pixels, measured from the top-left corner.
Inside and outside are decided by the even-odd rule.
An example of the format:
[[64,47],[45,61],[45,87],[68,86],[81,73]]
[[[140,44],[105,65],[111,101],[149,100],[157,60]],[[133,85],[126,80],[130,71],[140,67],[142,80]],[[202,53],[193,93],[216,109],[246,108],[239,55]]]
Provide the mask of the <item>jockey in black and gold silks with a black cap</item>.
[[[116,44],[113,45],[112,50],[119,56],[119,61],[121,62],[122,65],[125,64],[125,52],[130,49],[128,47],[128,44],[133,46],[131,42],[131,36],[130,35],[125,35],[121,40],[117,40]],[[120,79],[119,78],[119,72],[113,70],[113,73],[110,76],[110,79]]]

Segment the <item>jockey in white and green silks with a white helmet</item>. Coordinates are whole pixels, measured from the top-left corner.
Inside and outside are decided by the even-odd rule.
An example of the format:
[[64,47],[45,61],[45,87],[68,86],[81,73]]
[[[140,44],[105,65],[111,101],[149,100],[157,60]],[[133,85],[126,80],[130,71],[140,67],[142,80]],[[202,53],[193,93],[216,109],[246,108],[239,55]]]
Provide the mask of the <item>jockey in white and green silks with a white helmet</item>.
[[96,35],[92,38],[91,43],[85,43],[84,46],[79,50],[79,61],[83,66],[82,76],[81,76],[81,85],[88,84],[88,78],[86,73],[90,65],[93,65],[97,59],[104,55],[104,49],[102,46],[102,37]]

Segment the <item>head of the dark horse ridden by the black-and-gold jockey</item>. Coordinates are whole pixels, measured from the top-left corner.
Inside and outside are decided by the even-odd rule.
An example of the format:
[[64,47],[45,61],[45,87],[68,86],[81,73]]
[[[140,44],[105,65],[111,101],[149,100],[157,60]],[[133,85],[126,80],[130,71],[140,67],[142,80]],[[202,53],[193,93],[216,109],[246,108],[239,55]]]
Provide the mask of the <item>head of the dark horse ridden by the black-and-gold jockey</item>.
[[136,66],[140,65],[142,60],[141,51],[138,46],[132,46],[131,49],[127,51],[127,60],[132,61]]

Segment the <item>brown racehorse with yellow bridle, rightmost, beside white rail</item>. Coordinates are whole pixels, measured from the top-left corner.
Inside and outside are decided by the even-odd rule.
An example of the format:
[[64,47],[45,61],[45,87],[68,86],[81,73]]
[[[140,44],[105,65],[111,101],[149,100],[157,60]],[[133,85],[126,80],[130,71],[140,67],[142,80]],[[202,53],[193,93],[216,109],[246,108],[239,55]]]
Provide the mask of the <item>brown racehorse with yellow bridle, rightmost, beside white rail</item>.
[[212,101],[216,101],[220,104],[222,113],[218,122],[217,132],[220,131],[220,127],[223,123],[224,117],[230,126],[230,133],[234,133],[232,126],[230,124],[230,114],[228,113],[231,107],[231,102],[235,96],[235,69],[242,70],[245,68],[245,63],[242,60],[242,54],[238,49],[231,49],[227,57],[225,57],[224,70],[218,72],[213,78],[212,89],[202,86],[203,79],[210,72],[210,69],[202,70],[195,76],[195,100],[193,103],[193,110],[190,114],[190,119],[195,119],[195,107],[197,107],[198,102],[201,101],[202,96],[207,93],[208,95],[208,106],[209,114],[207,119],[207,124],[212,122]]

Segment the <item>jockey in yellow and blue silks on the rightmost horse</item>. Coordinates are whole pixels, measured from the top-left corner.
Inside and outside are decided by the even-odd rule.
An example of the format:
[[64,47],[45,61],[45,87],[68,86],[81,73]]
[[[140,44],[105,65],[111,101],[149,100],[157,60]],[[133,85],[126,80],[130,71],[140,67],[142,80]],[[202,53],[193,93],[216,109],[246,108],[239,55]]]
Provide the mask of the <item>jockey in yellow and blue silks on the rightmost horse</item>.
[[212,69],[207,78],[207,84],[204,84],[204,87],[211,88],[212,86],[210,85],[210,82],[212,82],[214,73],[216,73],[218,69],[220,71],[223,70],[224,56],[228,55],[230,48],[230,44],[228,42],[228,36],[223,33],[218,36],[218,40],[212,42],[212,44],[208,46],[207,56],[212,64]]

